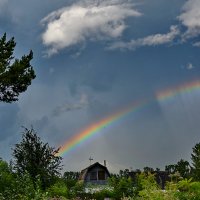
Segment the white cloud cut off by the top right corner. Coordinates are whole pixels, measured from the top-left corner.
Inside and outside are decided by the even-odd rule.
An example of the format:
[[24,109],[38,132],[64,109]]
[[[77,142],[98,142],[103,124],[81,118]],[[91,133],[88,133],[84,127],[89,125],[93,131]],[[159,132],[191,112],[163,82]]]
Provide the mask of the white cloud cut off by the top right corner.
[[195,37],[200,34],[200,1],[188,0],[183,6],[183,13],[178,17],[187,27],[184,38]]

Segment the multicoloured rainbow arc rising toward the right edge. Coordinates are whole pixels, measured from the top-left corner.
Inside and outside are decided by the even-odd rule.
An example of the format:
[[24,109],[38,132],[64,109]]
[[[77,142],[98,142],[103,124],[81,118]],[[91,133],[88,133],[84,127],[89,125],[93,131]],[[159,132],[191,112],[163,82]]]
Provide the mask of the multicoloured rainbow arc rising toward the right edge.
[[190,93],[196,90],[200,90],[200,81],[195,80],[192,82],[184,83],[182,85],[176,86],[174,88],[169,88],[163,90],[161,92],[156,93],[155,99],[149,99],[146,101],[138,101],[133,103],[126,108],[106,117],[100,121],[97,121],[91,125],[89,125],[84,130],[80,131],[79,133],[75,134],[73,137],[68,139],[65,144],[63,144],[58,152],[58,156],[64,156],[69,151],[72,151],[80,144],[84,143],[88,139],[92,138],[93,136],[100,133],[100,131],[112,125],[114,122],[122,119],[123,117],[129,115],[130,113],[137,113],[141,109],[144,109],[146,106],[149,106],[154,101],[166,101],[168,99],[174,98],[179,94],[182,93]]

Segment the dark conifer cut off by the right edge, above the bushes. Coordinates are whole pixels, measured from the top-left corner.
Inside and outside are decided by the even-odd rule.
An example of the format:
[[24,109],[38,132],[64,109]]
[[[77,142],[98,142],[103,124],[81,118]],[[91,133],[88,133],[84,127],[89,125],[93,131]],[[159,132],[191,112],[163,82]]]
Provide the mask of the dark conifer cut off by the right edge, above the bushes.
[[200,181],[200,143],[197,143],[192,150],[192,176],[196,181]]

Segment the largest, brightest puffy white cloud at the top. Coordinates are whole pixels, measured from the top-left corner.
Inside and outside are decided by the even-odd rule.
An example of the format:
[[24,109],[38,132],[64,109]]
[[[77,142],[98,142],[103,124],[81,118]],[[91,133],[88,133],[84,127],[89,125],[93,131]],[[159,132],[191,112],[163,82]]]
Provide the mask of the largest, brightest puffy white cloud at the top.
[[50,13],[41,22],[46,26],[42,35],[48,54],[82,43],[120,37],[126,29],[125,19],[141,13],[130,1],[99,0],[78,2]]

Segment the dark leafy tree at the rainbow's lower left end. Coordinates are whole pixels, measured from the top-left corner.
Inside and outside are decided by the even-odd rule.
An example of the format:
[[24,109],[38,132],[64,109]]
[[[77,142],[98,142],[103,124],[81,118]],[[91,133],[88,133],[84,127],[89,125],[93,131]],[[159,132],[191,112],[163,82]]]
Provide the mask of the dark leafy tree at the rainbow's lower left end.
[[43,143],[33,128],[24,128],[22,141],[13,150],[14,169],[21,176],[28,173],[34,186],[39,179],[42,189],[46,189],[62,169],[58,151]]

